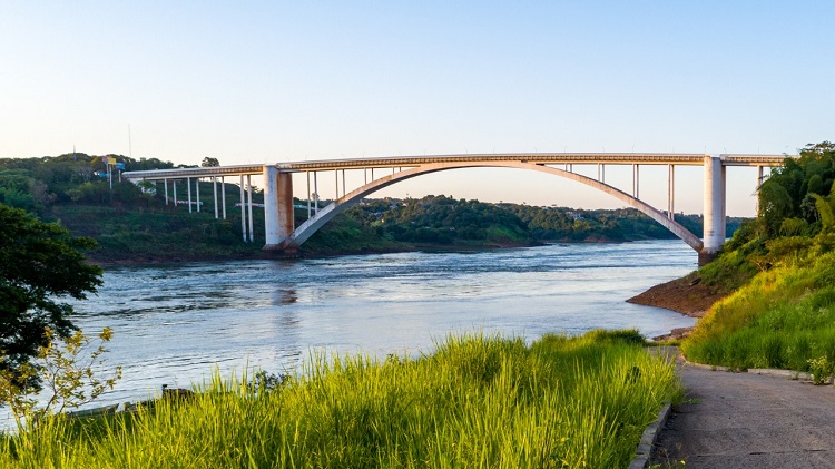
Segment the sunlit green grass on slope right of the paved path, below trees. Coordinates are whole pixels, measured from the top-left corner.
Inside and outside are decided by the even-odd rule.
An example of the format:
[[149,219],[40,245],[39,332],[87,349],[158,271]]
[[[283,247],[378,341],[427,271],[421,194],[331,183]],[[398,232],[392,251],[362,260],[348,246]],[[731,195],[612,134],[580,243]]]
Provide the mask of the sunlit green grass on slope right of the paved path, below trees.
[[681,349],[689,360],[739,369],[835,363],[835,253],[759,273],[715,304]]

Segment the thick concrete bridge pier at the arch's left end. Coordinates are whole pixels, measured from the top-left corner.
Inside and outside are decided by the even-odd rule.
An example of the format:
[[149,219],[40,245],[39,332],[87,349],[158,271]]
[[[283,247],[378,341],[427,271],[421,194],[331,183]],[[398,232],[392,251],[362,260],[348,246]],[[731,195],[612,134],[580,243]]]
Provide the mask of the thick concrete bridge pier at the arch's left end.
[[265,251],[284,251],[282,244],[295,229],[293,218],[293,175],[275,166],[264,166]]

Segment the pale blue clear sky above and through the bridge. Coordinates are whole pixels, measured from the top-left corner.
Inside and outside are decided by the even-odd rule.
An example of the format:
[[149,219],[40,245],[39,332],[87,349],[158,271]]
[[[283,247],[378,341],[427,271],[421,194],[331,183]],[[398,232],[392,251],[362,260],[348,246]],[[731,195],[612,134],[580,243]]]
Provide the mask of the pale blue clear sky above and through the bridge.
[[[834,16],[828,1],[0,0],[0,157],[794,154],[835,139]],[[607,182],[628,192],[629,174]],[[700,213],[701,169],[676,174],[676,211]],[[666,207],[666,168],[640,180]],[[755,180],[728,169],[729,215],[754,214]],[[380,193],[406,194],[622,206],[513,169]]]

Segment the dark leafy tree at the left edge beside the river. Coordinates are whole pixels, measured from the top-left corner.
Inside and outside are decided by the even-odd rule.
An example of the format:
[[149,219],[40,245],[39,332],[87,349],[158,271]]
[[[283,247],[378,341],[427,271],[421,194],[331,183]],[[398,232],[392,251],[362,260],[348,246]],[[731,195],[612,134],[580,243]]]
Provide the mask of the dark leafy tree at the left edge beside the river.
[[76,329],[72,306],[61,300],[84,300],[101,285],[101,267],[84,255],[95,246],[57,223],[0,204],[0,371],[29,381],[19,384],[37,388],[37,377],[19,371],[49,345],[47,329],[60,338]]

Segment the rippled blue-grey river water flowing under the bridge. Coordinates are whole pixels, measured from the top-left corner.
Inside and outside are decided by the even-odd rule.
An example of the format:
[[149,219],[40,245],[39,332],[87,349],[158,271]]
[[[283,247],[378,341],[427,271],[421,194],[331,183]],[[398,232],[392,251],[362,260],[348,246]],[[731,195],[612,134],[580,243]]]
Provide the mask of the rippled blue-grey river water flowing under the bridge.
[[696,262],[680,241],[652,241],[114,267],[76,304],[75,322],[115,332],[107,365],[122,365],[124,378],[95,403],[104,406],[215,369],[297,369],[312,351],[431,352],[449,333],[658,335],[694,320],[625,300]]

